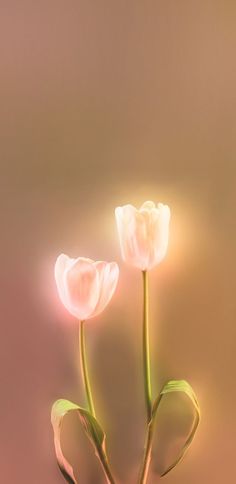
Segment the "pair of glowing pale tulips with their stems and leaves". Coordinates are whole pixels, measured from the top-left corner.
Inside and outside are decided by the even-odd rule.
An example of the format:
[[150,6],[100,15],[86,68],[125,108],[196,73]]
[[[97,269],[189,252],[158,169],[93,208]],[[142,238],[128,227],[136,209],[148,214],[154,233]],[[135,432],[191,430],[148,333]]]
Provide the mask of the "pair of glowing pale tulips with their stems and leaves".
[[[140,269],[143,273],[143,368],[144,393],[147,411],[147,435],[144,456],[140,469],[139,483],[145,484],[151,460],[153,431],[157,409],[163,396],[170,392],[184,392],[191,400],[195,410],[192,429],[177,459],[162,475],[167,474],[182,459],[190,445],[200,418],[199,405],[191,386],[184,380],[168,382],[157,399],[153,401],[151,390],[151,371],[149,355],[149,307],[148,307],[148,270],[154,268],[164,258],[169,238],[170,209],[159,203],[145,202],[138,210],[132,205],[117,207],[116,222],[122,258],[125,262]],[[65,479],[76,484],[74,470],[66,460],[61,447],[61,427],[63,418],[75,411],[82,422],[85,432],[95,448],[106,481],[115,483],[105,448],[105,433],[97,421],[93,395],[87,367],[84,324],[85,321],[100,314],[110,302],[119,278],[116,262],[94,262],[79,257],[71,259],[61,254],[55,264],[55,279],[60,299],[66,309],[80,323],[81,371],[87,398],[87,409],[68,400],[57,400],[52,408],[52,425],[58,465]]]

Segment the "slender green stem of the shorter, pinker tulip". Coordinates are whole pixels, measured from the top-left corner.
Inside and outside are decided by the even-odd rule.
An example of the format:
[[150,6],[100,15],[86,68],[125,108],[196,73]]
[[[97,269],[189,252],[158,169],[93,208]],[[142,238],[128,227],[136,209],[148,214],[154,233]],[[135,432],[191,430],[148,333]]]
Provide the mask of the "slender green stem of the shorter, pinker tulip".
[[[84,381],[85,393],[88,403],[89,412],[91,415],[96,419],[95,408],[93,403],[93,396],[91,391],[91,385],[89,381],[89,373],[88,373],[88,365],[87,365],[87,357],[86,357],[86,349],[85,349],[85,338],[84,338],[84,321],[80,321],[79,327],[79,346],[80,346],[80,363],[81,363],[81,371]],[[115,479],[112,475],[107,456],[104,454],[103,450],[99,452],[99,457],[101,460],[101,464],[106,476],[106,481],[108,484],[115,484]]]

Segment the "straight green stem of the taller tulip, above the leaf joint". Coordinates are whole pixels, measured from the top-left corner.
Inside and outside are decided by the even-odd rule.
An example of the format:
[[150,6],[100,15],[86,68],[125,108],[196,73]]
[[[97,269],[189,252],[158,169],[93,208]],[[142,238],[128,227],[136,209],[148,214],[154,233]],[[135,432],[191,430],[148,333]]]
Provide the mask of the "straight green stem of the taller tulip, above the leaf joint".
[[143,373],[147,423],[149,424],[152,415],[152,389],[149,348],[149,292],[147,271],[143,271]]

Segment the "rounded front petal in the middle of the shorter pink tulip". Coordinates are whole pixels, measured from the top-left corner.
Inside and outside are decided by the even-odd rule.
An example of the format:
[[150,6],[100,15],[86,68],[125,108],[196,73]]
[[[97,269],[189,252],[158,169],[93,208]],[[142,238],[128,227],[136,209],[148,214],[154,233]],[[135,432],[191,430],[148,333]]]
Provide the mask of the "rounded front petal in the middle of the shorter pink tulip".
[[91,317],[99,298],[98,274],[93,261],[78,258],[64,274],[66,307],[80,320]]

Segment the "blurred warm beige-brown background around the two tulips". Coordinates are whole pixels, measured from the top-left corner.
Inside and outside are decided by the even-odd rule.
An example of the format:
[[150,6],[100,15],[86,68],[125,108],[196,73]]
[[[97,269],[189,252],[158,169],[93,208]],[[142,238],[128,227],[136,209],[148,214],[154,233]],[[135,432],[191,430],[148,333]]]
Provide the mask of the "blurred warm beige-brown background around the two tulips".
[[[165,482],[236,481],[235,25],[232,0],[0,2],[4,484],[63,482],[50,406],[83,399],[56,256],[120,262],[114,207],[150,198],[172,209],[168,257],[151,275],[153,381],[189,379],[202,408],[194,445]],[[87,339],[113,466],[135,483],[138,272],[121,264]],[[103,482],[81,442],[80,482]]]

